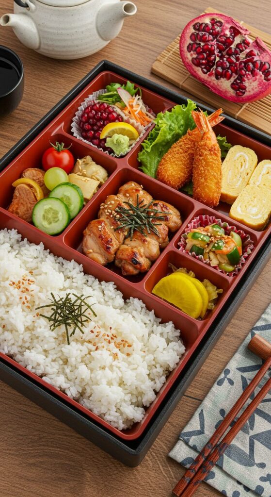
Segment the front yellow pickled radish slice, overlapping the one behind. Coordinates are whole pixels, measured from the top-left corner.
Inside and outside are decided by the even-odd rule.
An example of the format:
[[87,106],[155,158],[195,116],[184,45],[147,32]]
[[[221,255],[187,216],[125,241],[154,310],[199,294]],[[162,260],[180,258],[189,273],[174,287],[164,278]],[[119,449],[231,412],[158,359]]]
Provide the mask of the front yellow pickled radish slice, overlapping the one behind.
[[184,273],[176,272],[160,279],[152,293],[174,304],[192,318],[199,318],[203,311],[201,294]]

